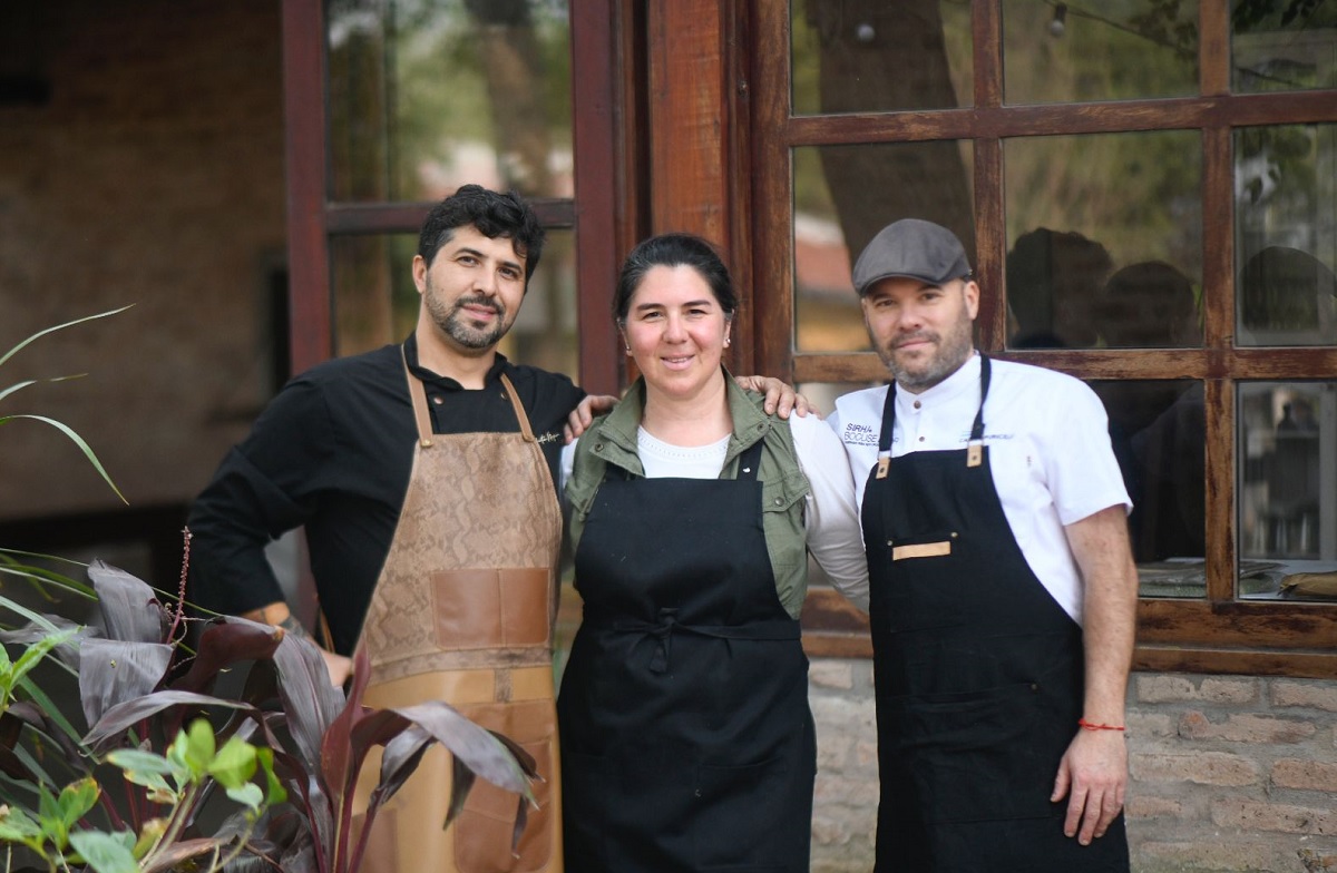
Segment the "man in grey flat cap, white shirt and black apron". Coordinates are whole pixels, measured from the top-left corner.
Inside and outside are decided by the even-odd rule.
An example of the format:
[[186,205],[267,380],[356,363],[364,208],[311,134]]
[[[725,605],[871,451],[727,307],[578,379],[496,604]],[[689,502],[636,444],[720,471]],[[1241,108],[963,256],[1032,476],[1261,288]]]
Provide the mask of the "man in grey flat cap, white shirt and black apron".
[[1138,591],[1104,409],[976,352],[980,287],[945,227],[885,227],[854,287],[894,377],[830,420],[868,548],[876,870],[1127,870]]

